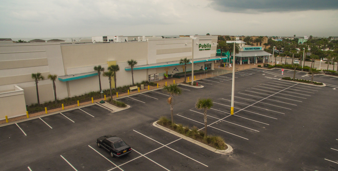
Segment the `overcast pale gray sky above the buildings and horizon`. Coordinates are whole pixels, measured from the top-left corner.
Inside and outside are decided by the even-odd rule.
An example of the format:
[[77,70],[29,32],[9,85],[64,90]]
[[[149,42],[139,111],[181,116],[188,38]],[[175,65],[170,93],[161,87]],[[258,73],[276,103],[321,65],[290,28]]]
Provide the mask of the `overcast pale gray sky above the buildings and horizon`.
[[0,38],[338,36],[338,0],[0,0]]

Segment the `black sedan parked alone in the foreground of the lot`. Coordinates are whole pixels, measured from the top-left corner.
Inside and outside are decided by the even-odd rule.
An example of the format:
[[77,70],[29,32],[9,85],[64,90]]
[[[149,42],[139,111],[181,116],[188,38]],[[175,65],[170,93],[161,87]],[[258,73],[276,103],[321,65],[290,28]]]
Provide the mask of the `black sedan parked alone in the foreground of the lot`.
[[105,135],[96,139],[98,147],[110,152],[112,157],[119,157],[131,152],[131,147],[117,136]]

